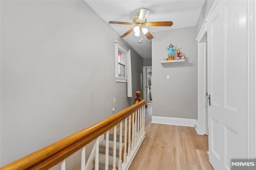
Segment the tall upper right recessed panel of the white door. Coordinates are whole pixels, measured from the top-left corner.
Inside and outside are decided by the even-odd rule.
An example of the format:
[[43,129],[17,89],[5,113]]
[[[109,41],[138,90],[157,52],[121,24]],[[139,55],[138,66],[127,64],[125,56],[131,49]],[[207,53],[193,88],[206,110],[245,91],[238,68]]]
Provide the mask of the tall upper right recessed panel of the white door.
[[224,51],[224,105],[226,109],[238,111],[238,16],[234,15],[234,11],[238,11],[238,1],[230,1],[224,10],[227,49]]

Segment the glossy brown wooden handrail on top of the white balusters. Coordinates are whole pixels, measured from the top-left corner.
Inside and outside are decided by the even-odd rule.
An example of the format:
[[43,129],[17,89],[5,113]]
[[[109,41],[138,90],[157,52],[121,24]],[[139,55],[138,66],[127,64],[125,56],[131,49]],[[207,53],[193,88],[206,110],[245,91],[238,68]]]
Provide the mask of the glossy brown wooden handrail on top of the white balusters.
[[145,100],[134,104],[116,115],[113,115],[103,121],[100,121],[88,128],[80,130],[58,142],[50,144],[36,152],[28,154],[6,166],[1,167],[1,170],[24,170],[38,169],[46,170],[52,168],[62,160],[68,158],[76,151],[80,150],[100,135],[104,134],[120,121],[134,113],[140,107],[146,104]]

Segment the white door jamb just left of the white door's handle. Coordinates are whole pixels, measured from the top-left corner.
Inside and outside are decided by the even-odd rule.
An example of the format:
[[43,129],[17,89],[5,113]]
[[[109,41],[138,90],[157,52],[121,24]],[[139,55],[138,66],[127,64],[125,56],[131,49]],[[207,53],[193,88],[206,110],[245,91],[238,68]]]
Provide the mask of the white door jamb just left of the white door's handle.
[[202,25],[198,36],[196,37],[196,41],[198,42],[198,90],[197,90],[197,104],[198,104],[198,121],[196,130],[198,134],[208,134],[208,114],[207,114],[207,102],[204,98],[207,92],[207,26],[206,22]]

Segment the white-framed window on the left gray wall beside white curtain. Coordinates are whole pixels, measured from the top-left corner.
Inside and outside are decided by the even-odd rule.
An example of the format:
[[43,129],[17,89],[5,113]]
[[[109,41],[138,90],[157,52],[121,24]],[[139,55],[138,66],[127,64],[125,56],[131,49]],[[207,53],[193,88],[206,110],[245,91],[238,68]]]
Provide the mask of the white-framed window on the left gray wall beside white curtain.
[[127,52],[128,49],[124,47],[117,40],[116,43],[116,82],[127,82]]

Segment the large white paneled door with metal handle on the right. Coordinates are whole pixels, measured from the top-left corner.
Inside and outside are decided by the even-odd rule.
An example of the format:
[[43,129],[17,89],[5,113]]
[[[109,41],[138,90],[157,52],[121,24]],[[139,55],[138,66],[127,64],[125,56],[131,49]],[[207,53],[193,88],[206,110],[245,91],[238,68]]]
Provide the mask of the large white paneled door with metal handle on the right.
[[218,1],[207,19],[209,161],[248,158],[248,1]]

